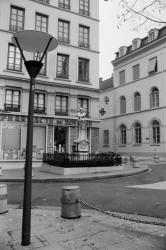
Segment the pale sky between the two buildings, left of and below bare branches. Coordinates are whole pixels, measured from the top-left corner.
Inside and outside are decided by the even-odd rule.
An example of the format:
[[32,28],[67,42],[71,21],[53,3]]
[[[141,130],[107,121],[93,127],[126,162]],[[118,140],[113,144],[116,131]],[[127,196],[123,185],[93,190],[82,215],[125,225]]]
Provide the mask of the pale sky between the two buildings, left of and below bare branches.
[[133,31],[131,23],[123,24],[117,28],[118,0],[99,0],[100,18],[100,73],[103,80],[111,77],[113,67],[111,61],[115,59],[115,53],[123,45],[131,45],[134,38],[147,36],[147,29],[141,28]]

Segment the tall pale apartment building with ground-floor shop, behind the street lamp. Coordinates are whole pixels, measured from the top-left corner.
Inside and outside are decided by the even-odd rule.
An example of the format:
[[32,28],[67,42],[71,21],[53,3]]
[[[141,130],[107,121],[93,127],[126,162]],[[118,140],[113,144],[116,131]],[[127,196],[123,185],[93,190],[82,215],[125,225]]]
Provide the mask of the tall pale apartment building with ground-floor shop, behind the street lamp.
[[[12,36],[21,30],[48,32],[58,40],[44,58],[35,85],[33,160],[43,152],[72,152],[77,111],[86,112],[90,152],[99,139],[99,1],[0,1],[0,161],[23,165],[29,76]],[[25,52],[27,59],[35,54]]]

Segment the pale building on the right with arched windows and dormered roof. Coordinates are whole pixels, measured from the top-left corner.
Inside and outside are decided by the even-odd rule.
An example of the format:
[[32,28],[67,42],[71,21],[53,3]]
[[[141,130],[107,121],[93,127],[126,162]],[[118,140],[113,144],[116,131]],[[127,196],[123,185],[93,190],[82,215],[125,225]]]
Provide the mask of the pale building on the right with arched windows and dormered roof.
[[122,46],[100,88],[101,151],[166,154],[166,27]]

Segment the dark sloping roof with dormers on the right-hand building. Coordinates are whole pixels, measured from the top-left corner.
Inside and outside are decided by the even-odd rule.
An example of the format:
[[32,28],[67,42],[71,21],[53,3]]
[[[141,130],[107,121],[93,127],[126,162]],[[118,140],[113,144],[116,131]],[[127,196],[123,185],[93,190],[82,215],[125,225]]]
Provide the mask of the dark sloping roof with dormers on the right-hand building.
[[132,45],[129,45],[129,46],[127,47],[127,51],[126,51],[126,54],[125,54],[124,56],[119,57],[119,52],[116,52],[116,58],[115,58],[114,61],[118,60],[119,58],[125,57],[126,55],[128,55],[128,54],[130,54],[130,53],[132,53],[132,52],[135,52],[136,50],[139,50],[139,49],[141,49],[141,48],[143,48],[143,47],[149,45],[150,43],[153,43],[154,41],[159,40],[160,38],[166,36],[166,26],[162,27],[162,28],[159,29],[158,31],[159,31],[159,33],[158,33],[157,39],[155,39],[155,40],[153,40],[153,41],[151,41],[151,42],[149,42],[148,36],[142,38],[142,39],[141,39],[140,47],[139,47],[138,49],[132,50]]

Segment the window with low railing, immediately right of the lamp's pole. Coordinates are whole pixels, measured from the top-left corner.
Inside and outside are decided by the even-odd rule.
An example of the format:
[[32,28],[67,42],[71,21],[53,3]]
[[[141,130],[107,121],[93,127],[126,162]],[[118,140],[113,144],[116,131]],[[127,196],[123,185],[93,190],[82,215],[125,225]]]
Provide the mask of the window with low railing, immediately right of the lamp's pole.
[[35,93],[34,96],[34,112],[45,114],[45,94]]

